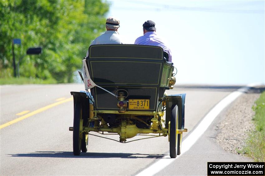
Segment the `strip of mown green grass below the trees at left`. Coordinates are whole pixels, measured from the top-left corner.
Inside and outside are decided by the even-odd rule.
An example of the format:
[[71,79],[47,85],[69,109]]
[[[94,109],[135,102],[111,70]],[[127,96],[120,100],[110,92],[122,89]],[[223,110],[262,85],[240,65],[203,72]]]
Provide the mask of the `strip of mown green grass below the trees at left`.
[[55,84],[57,81],[55,79],[38,79],[38,78],[0,78],[0,85],[5,84]]

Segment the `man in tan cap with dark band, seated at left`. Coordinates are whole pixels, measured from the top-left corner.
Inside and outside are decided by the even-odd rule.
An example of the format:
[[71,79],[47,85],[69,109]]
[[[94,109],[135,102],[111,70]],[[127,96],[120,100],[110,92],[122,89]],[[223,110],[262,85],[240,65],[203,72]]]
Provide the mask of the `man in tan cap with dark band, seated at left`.
[[[108,17],[106,21],[106,30],[104,34],[98,36],[91,45],[98,44],[123,44],[121,37],[118,33],[118,28],[120,27],[120,21],[114,17]],[[88,51],[86,53],[88,57]]]

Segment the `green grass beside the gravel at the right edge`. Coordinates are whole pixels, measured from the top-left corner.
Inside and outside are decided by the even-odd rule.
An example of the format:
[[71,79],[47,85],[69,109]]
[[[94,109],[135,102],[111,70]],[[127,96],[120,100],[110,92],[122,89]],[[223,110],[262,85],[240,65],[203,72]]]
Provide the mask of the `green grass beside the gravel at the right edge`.
[[242,153],[245,153],[256,162],[265,161],[265,91],[256,100],[252,107],[255,111],[253,117],[255,130],[251,131],[246,146],[243,147]]

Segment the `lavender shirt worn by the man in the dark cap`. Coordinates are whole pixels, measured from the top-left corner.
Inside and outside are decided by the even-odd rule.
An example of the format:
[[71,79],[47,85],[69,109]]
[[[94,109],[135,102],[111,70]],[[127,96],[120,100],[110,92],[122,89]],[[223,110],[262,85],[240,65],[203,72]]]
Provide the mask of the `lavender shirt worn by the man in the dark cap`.
[[160,46],[168,54],[168,61],[172,62],[171,50],[165,45],[165,43],[157,36],[155,31],[146,32],[143,36],[138,37],[134,44],[137,45],[153,45]]

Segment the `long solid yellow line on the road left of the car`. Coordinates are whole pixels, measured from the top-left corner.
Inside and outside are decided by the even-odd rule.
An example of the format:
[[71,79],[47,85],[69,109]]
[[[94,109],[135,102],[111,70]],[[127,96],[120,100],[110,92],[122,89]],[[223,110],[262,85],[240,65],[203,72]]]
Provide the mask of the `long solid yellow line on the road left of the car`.
[[5,123],[5,124],[3,124],[3,125],[0,125],[0,129],[2,129],[2,128],[4,128],[4,127],[7,127],[7,126],[9,126],[9,125],[12,125],[12,124],[14,124],[14,123],[17,123],[18,121],[21,121],[21,120],[23,120],[23,119],[26,119],[26,118],[28,118],[28,117],[31,117],[31,116],[33,116],[33,115],[35,115],[35,114],[38,114],[38,113],[42,112],[42,111],[45,111],[45,110],[50,109],[50,108],[52,108],[52,107],[55,107],[55,106],[57,106],[57,105],[59,105],[59,104],[62,104],[62,103],[65,103],[65,102],[70,102],[70,101],[72,101],[72,100],[73,100],[73,97],[71,97],[71,98],[67,98],[67,99],[62,100],[62,101],[60,101],[60,102],[52,103],[52,104],[50,104],[50,105],[47,105],[47,106],[45,106],[45,107],[42,107],[42,108],[37,109],[37,110],[35,110],[35,111],[32,111],[32,112],[30,112],[30,113],[28,113],[28,114],[26,114],[26,115],[24,115],[24,116],[21,116],[21,117],[19,117],[19,118],[17,118],[17,119],[14,119],[14,120],[9,121],[9,122],[7,122],[7,123]]

